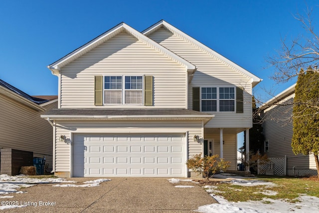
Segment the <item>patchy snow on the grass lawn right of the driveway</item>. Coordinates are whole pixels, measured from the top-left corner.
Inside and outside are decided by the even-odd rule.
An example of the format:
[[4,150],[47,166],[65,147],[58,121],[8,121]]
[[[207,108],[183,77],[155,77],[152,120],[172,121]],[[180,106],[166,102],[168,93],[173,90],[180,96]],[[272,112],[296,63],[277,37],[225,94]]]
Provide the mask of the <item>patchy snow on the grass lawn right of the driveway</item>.
[[[217,176],[218,177],[218,176]],[[221,176],[225,178],[225,176]],[[216,178],[216,176],[214,176]],[[240,186],[276,186],[274,183],[264,182],[260,180],[243,180],[239,178],[227,178],[231,184]],[[312,196],[300,195],[298,203],[289,203],[285,200],[273,200],[264,198],[262,201],[247,201],[247,202],[228,202],[221,196],[215,196],[213,193],[217,192],[214,186],[204,186],[208,193],[219,203],[201,206],[196,210],[200,213],[315,213],[319,212],[319,198]],[[264,190],[259,192],[265,195],[276,195],[277,192]]]

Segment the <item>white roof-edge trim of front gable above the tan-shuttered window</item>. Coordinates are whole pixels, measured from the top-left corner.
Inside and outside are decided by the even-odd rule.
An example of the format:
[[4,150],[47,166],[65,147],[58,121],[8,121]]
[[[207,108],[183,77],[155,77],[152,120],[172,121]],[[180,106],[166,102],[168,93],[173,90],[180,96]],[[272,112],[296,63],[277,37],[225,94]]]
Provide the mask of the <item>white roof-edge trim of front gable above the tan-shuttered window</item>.
[[59,73],[59,70],[67,65],[68,63],[72,62],[73,60],[79,58],[80,56],[84,55],[85,53],[89,52],[96,46],[104,43],[105,41],[109,40],[110,38],[114,37],[115,35],[119,34],[120,32],[127,32],[130,35],[134,36],[138,40],[142,40],[150,47],[160,51],[162,54],[166,55],[167,57],[171,58],[173,61],[177,62],[178,64],[183,65],[186,67],[187,71],[193,71],[196,69],[196,66],[188,62],[187,60],[183,59],[182,57],[176,55],[175,53],[171,52],[170,50],[166,49],[159,43],[155,42],[154,40],[150,39],[146,35],[142,34],[141,32],[137,31],[133,27],[129,26],[128,24],[122,22],[115,27],[109,29],[108,31],[102,33],[101,35],[97,36],[93,40],[87,42],[86,44],[82,45],[81,47],[75,49],[74,51],[70,52],[69,54],[65,55],[64,57],[60,58],[59,60],[55,61],[54,63],[50,64],[48,68],[52,71],[54,75]]

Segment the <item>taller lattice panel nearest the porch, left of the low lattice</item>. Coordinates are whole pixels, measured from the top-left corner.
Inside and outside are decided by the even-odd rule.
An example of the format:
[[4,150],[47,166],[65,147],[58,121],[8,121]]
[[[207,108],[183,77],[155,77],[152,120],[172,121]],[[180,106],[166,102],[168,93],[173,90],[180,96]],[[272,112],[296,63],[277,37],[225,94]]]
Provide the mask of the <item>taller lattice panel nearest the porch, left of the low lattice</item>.
[[[267,170],[273,169],[274,175],[285,175],[285,158],[269,158],[266,164],[258,165],[258,175],[265,175]],[[271,168],[271,164],[273,164]]]

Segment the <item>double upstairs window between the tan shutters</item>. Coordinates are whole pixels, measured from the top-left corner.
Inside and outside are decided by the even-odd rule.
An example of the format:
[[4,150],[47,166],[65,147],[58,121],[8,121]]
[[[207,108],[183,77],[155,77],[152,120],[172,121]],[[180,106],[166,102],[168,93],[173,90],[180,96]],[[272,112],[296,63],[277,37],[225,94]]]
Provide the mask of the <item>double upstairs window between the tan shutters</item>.
[[104,76],[104,103],[142,104],[143,76]]

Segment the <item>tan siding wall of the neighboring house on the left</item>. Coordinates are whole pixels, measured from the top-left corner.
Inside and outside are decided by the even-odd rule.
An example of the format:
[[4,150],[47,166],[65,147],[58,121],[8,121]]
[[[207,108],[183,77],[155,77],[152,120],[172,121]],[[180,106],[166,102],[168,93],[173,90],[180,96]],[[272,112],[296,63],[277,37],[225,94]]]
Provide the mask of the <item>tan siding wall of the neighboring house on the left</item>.
[[[36,111],[0,94],[0,148],[33,152],[33,157],[46,158],[52,169],[52,126]],[[45,105],[57,108],[57,102]]]

